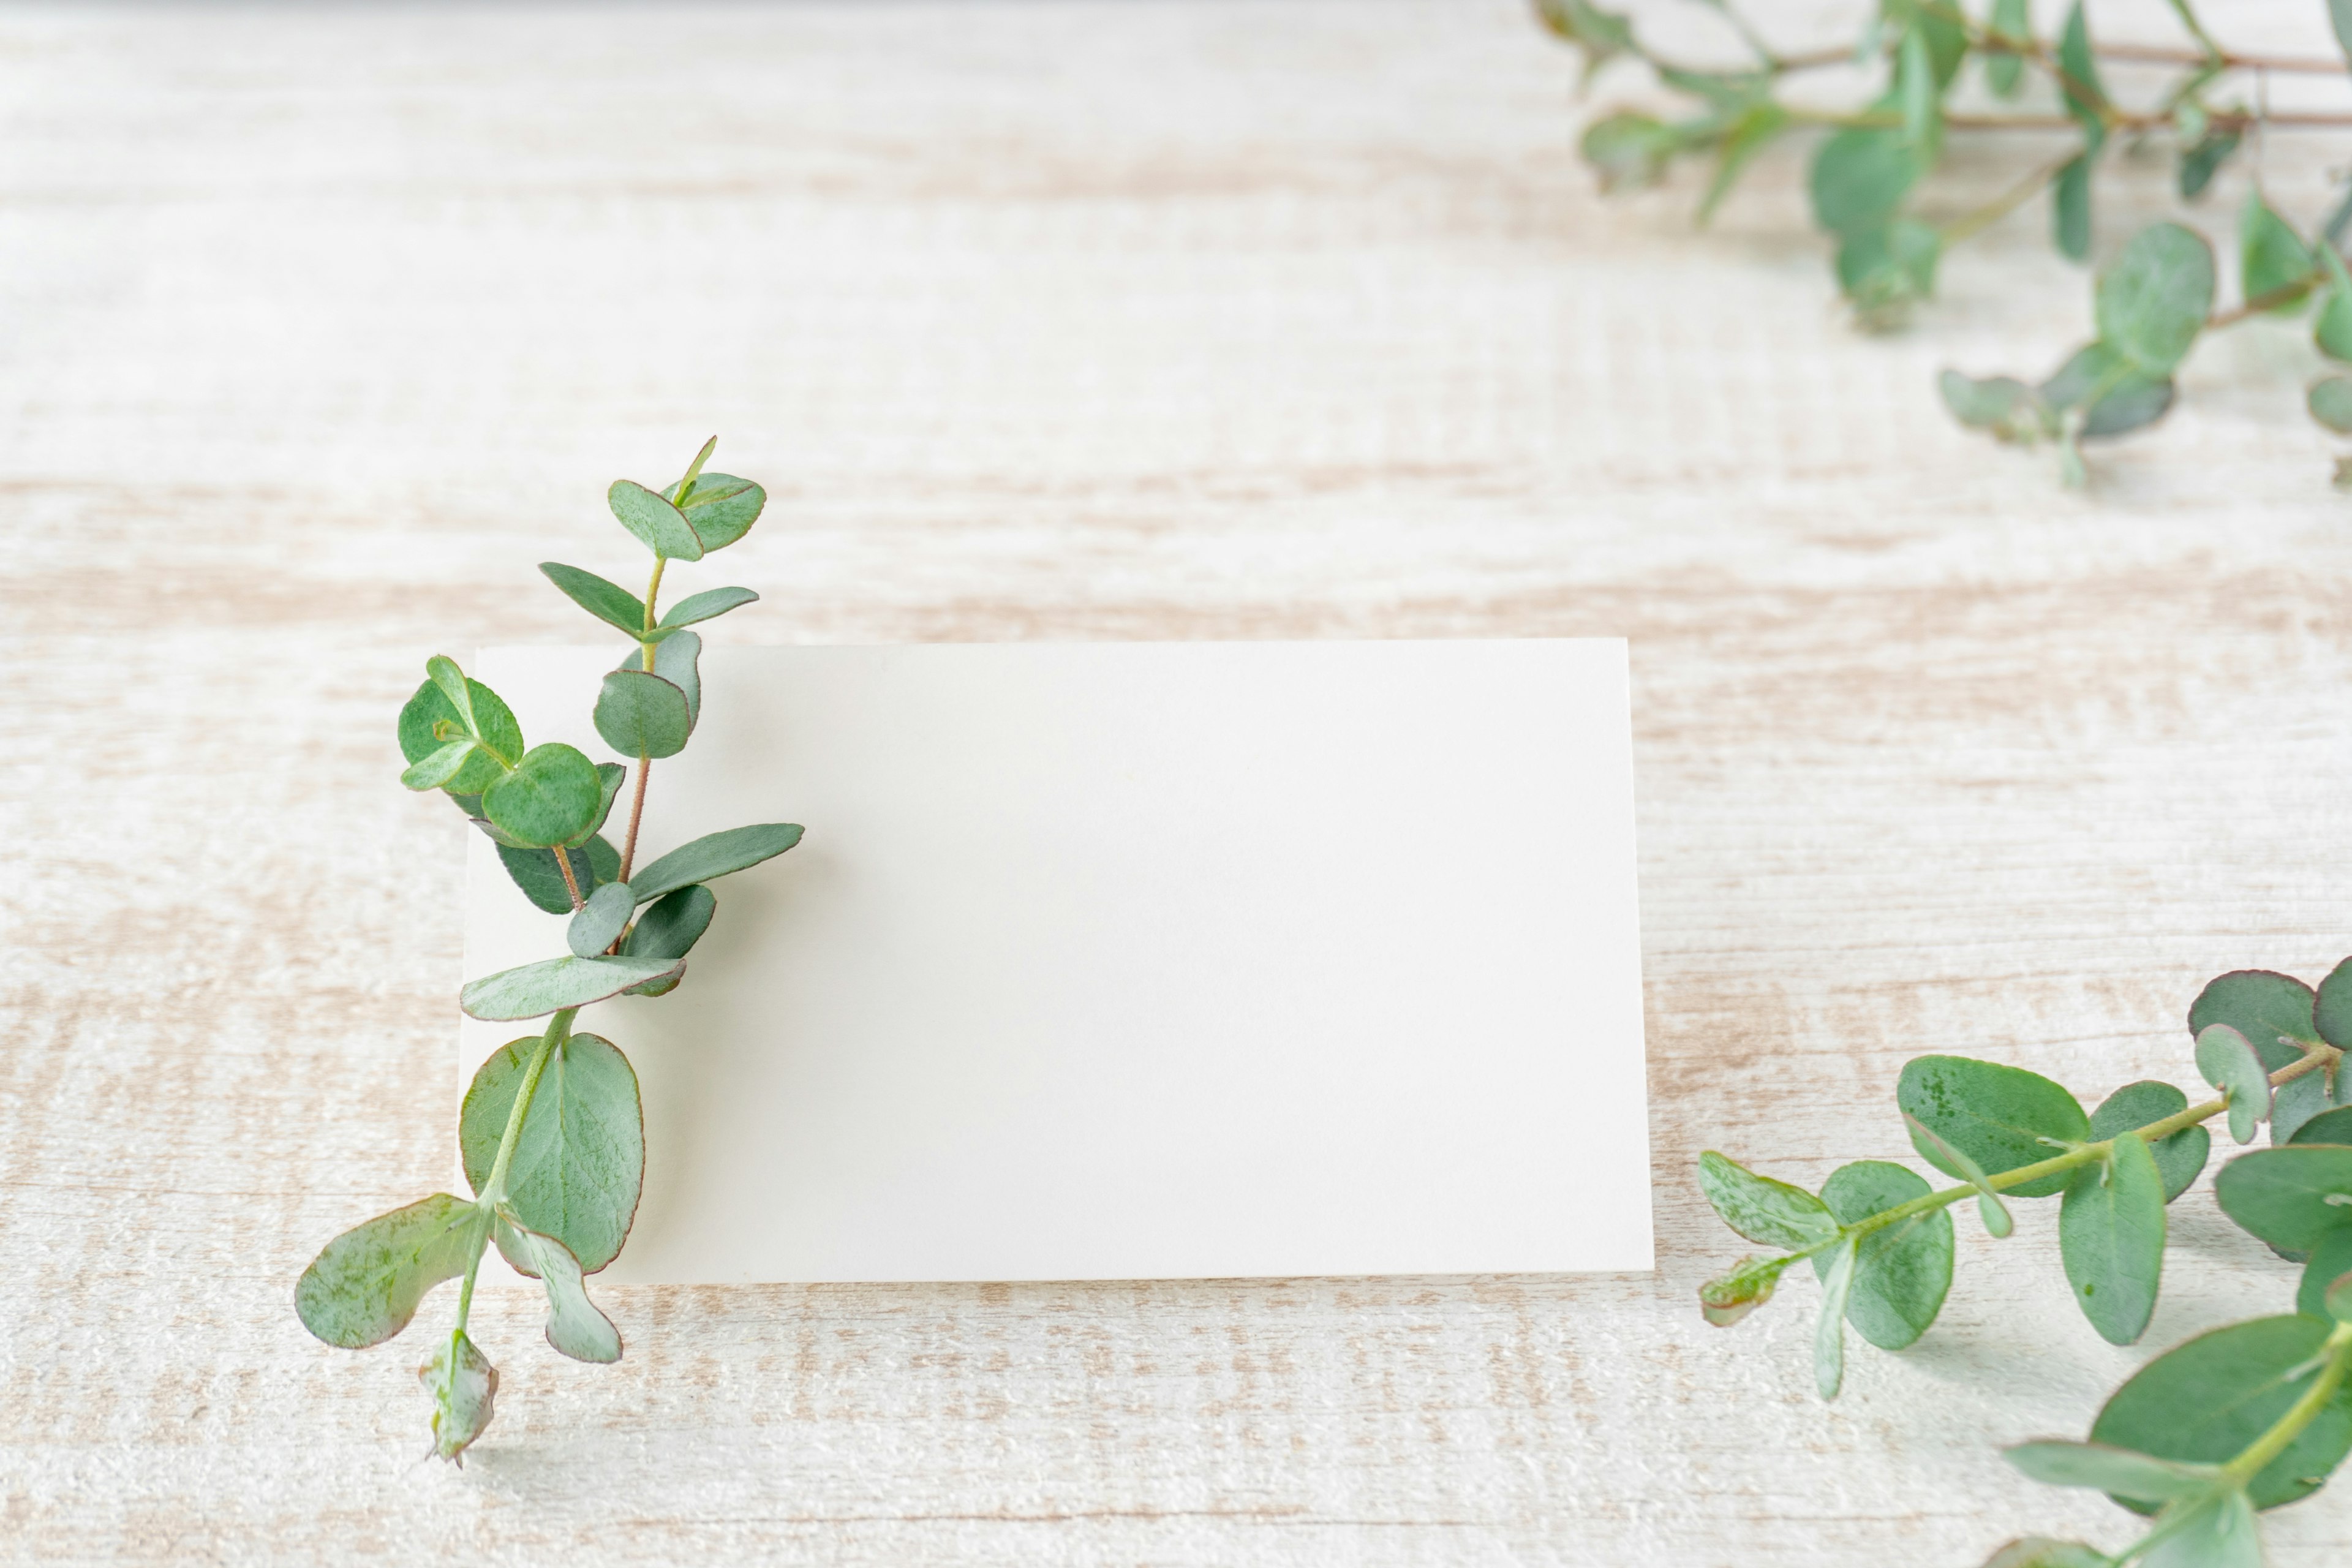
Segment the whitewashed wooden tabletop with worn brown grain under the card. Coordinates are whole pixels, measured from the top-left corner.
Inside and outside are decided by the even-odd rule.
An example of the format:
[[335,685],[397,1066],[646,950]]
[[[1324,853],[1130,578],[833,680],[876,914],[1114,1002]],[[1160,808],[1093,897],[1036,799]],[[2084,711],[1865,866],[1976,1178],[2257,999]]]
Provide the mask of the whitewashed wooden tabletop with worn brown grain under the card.
[[[1757,9],[1790,42],[1851,14]],[[2328,47],[2317,0],[2216,24]],[[2206,1192],[2147,1347],[2070,1309],[2046,1211],[1962,1225],[1936,1333],[1823,1408],[1813,1286],[1698,1321],[1743,1246],[1691,1161],[1905,1157],[1891,1086],[1931,1048],[2178,1081],[2206,976],[2352,950],[2317,364],[2284,324],[2209,343],[2065,494],[1931,395],[2084,329],[2039,212],[1865,339],[1802,148],[1693,235],[1689,179],[1595,197],[1571,82],[1508,0],[0,12],[0,1549],[2122,1542],[1994,1446],[2288,1302]],[[2013,158],[1962,143],[1945,209]],[[2270,183],[2307,216],[2331,160],[2279,139]],[[2105,242],[2164,179],[2124,169]],[[1630,635],[1656,1276],[630,1288],[619,1368],[499,1288],[496,1427],[416,1465],[421,1352],[325,1349],[289,1305],[449,1164],[463,830],[393,783],[390,717],[428,651],[576,637],[532,562],[619,569],[604,482],[710,430],[774,494],[724,578],[769,597],[720,637]],[[2345,1561],[2343,1488],[2272,1540]]]

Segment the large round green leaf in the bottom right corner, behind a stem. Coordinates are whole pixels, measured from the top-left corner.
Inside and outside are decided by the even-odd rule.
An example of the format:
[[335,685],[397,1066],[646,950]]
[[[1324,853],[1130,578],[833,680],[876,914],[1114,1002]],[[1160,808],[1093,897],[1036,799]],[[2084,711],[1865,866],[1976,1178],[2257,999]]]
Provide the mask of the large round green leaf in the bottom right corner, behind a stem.
[[[2319,1371],[2312,1356],[2331,1328],[2333,1324],[2310,1316],[2265,1316],[2197,1335],[2119,1387],[2091,1425],[2091,1441],[2159,1460],[2227,1465],[2310,1389]],[[2265,1509],[2307,1497],[2343,1462],[2347,1448],[2352,1385],[2338,1389],[2246,1490]],[[2145,1502],[2117,1502],[2140,1514],[2152,1512]]]

